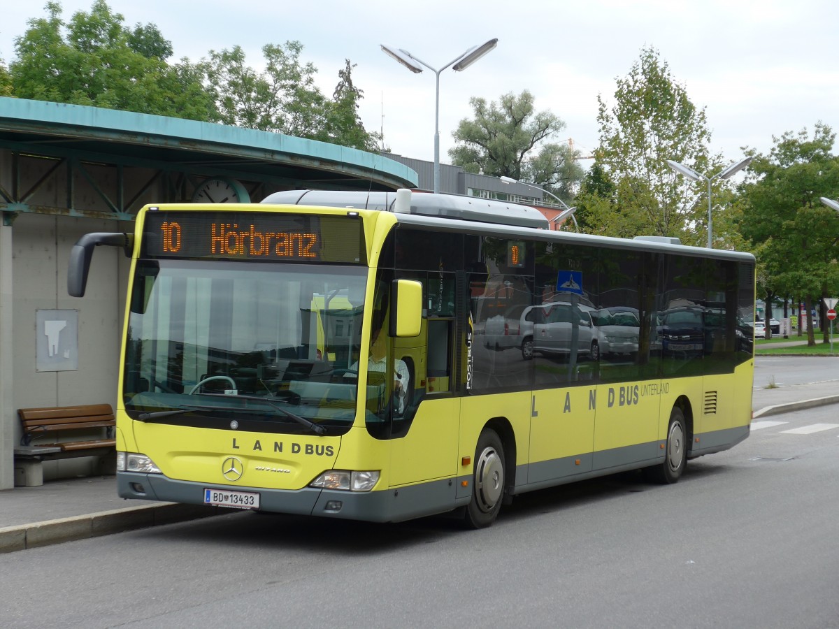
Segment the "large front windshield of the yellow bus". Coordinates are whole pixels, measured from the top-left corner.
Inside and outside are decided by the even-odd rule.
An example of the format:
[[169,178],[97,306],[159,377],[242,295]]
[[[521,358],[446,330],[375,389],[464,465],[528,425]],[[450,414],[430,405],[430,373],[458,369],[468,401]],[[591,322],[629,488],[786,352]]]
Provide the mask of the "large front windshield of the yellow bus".
[[329,434],[355,416],[367,270],[139,261],[122,398],[141,421]]

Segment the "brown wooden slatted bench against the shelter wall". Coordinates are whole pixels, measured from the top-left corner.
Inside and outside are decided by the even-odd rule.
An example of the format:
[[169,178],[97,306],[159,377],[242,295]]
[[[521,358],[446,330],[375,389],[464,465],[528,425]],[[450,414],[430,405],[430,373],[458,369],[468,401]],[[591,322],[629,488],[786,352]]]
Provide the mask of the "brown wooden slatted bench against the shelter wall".
[[[18,408],[18,417],[23,427],[20,445],[14,449],[15,459],[19,460],[15,467],[21,470],[22,476],[22,482],[16,482],[18,485],[43,485],[43,460],[112,455],[115,452],[117,440],[113,438],[113,427],[116,420],[110,404]],[[99,431],[104,433],[104,439],[91,439],[91,430],[96,429],[104,429]],[[38,442],[33,443],[35,440]]]

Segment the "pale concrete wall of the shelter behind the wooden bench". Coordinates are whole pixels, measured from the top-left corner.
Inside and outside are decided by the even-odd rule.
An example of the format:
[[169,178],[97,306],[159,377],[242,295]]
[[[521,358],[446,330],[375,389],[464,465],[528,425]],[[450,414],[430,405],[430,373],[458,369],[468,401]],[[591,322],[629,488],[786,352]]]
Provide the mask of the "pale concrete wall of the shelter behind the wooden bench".
[[[83,299],[67,294],[67,265],[70,249],[83,234],[124,229],[133,230],[133,225],[38,214],[20,214],[14,221],[13,386],[3,399],[3,414],[13,425],[13,444],[21,438],[18,408],[90,403],[110,403],[116,408],[129,260],[117,247],[96,247]],[[76,371],[37,371],[38,309],[78,311]],[[0,327],[7,323],[0,321]],[[96,469],[97,462],[90,458],[48,461],[44,463],[44,479],[87,475]]]

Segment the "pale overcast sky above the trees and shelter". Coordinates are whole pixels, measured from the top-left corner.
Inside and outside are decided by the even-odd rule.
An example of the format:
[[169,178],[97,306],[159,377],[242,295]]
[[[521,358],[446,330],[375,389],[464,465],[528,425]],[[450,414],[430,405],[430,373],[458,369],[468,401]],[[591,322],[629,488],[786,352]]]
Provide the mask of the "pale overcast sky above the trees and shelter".
[[[13,39],[44,3],[5,3],[0,58],[13,60]],[[92,0],[62,0],[64,18],[89,11]],[[262,64],[264,44],[298,40],[303,60],[331,96],[345,58],[357,64],[368,130],[408,157],[433,159],[435,75],[415,75],[384,55],[379,44],[409,50],[435,68],[473,45],[498,38],[498,48],[462,72],[440,74],[440,160],[451,133],[472,117],[469,98],[523,90],[537,111],[566,124],[556,141],[573,138],[590,154],[597,146],[597,95],[612,102],[615,79],[628,75],[645,46],[659,50],[690,100],[705,107],[711,149],[724,159],[744,146],[766,152],[772,136],[818,121],[839,131],[839,63],[835,0],[110,0],[128,25],[155,23],[175,57],[199,60],[210,49],[239,44],[248,65]],[[582,164],[591,164],[584,161]]]

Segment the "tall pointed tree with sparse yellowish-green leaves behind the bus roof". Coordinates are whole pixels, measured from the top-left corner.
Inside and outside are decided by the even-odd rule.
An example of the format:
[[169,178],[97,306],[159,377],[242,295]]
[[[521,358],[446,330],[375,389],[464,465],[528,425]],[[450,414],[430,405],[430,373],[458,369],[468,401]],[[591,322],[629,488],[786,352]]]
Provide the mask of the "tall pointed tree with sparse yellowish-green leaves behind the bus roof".
[[[720,169],[711,158],[704,109],[697,109],[653,48],[641,50],[628,76],[618,78],[614,104],[597,96],[600,143],[597,182],[586,184],[576,204],[586,229],[608,236],[657,235],[706,242],[706,183],[685,181],[667,165],[672,159],[699,173]],[[712,196],[727,184],[715,181]],[[721,231],[715,236],[725,237]]]

